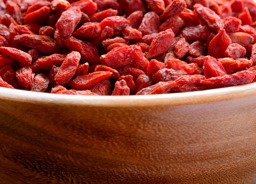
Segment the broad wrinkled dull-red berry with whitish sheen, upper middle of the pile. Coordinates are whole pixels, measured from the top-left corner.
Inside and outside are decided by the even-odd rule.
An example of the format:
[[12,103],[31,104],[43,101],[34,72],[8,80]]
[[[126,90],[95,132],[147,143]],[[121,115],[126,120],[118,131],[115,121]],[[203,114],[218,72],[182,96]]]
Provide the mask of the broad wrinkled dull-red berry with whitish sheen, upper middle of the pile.
[[140,24],[139,31],[142,35],[149,35],[152,33],[158,33],[158,27],[160,26],[160,19],[154,11],[146,13]]

